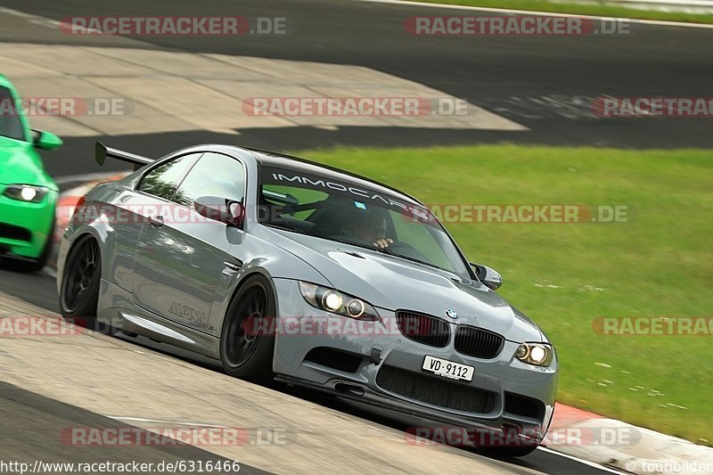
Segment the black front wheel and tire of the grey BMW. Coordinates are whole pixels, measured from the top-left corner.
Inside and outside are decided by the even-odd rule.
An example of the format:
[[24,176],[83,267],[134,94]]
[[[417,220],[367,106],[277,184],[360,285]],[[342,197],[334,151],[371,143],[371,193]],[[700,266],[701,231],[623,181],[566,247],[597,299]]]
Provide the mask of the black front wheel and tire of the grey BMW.
[[260,321],[275,318],[275,296],[262,275],[242,284],[225,314],[220,334],[220,361],[225,373],[261,384],[273,380],[275,338]]

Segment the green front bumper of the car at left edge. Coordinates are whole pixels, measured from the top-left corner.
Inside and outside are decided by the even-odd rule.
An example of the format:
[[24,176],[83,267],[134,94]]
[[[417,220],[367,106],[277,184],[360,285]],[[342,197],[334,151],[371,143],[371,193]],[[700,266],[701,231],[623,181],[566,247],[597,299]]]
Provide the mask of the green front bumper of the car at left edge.
[[0,254],[40,257],[52,239],[57,195],[50,190],[43,201],[28,203],[0,194]]

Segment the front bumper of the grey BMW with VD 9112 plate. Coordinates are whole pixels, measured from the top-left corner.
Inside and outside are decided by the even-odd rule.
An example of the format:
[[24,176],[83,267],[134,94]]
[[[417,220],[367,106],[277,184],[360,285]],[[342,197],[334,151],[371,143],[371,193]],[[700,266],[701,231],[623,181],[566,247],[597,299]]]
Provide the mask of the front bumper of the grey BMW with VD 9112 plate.
[[[379,308],[382,323],[356,330],[347,317],[311,307],[297,282],[275,279],[277,315],[299,320],[307,332],[275,332],[277,379],[321,389],[420,419],[476,430],[512,430],[544,438],[553,414],[557,361],[547,368],[513,357],[520,342],[505,340],[493,359],[465,356],[453,347],[435,348],[408,340],[389,323],[391,311]],[[320,324],[332,322],[327,328]],[[278,330],[280,326],[278,325]],[[505,335],[506,336],[506,335]],[[324,348],[327,348],[324,350]],[[321,355],[320,357],[314,357]],[[327,355],[327,356],[324,356]],[[453,381],[422,370],[425,356],[475,367],[472,381]]]

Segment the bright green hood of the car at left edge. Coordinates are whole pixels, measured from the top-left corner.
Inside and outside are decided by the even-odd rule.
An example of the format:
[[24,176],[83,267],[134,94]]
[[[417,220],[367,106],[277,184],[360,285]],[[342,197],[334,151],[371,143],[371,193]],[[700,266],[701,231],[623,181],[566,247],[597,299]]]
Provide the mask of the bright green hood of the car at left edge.
[[56,190],[31,143],[0,136],[0,184],[36,184]]

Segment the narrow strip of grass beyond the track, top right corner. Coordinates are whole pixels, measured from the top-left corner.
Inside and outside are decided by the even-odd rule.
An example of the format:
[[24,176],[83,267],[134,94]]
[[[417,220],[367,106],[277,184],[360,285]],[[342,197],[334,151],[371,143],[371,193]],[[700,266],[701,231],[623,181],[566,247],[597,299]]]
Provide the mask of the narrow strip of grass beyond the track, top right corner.
[[412,0],[427,4],[455,4],[536,12],[572,13],[597,17],[617,17],[639,20],[683,21],[686,23],[713,24],[713,14],[686,12],[659,12],[639,10],[611,4],[577,4],[547,2],[546,0]]

